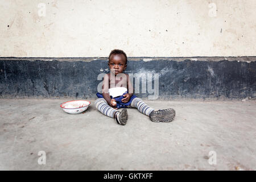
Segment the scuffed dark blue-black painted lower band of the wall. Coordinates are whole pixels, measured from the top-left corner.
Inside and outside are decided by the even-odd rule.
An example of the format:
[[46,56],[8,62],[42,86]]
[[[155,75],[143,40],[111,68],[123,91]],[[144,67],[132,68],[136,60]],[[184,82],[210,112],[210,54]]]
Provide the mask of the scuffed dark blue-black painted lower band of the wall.
[[[0,59],[0,98],[96,98],[97,76],[107,68],[106,59]],[[126,73],[158,73],[161,99],[256,97],[256,61],[138,60],[128,62]]]

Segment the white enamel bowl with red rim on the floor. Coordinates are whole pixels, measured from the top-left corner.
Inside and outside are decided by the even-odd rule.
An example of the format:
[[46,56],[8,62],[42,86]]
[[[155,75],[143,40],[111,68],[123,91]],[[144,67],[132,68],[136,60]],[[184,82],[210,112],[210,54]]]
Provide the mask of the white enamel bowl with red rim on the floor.
[[60,107],[69,114],[79,114],[85,111],[90,105],[90,101],[77,100],[68,101],[60,105]]

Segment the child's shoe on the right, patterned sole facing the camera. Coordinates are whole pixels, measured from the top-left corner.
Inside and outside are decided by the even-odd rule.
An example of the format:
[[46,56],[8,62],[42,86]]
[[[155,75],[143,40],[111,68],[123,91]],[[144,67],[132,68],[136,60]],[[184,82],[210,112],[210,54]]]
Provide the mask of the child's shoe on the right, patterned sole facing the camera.
[[150,120],[152,122],[171,122],[174,120],[175,114],[175,110],[172,108],[155,110],[150,113]]

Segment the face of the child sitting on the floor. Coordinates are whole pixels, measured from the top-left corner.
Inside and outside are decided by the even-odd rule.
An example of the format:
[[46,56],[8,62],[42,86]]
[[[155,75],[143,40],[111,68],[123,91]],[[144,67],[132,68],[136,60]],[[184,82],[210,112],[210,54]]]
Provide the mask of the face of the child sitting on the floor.
[[125,64],[125,56],[124,55],[111,55],[109,59],[109,69],[114,69],[115,75],[118,73],[122,73],[127,67]]

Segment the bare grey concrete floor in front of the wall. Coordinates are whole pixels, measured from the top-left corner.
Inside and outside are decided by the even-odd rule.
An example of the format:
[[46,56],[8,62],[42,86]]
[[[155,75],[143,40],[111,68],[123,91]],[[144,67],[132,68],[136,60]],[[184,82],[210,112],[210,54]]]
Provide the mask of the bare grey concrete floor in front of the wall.
[[64,113],[64,101],[0,100],[1,170],[256,169],[255,101],[145,101],[174,108],[175,120],[153,123],[128,109],[126,126],[99,113],[94,100],[76,115]]

